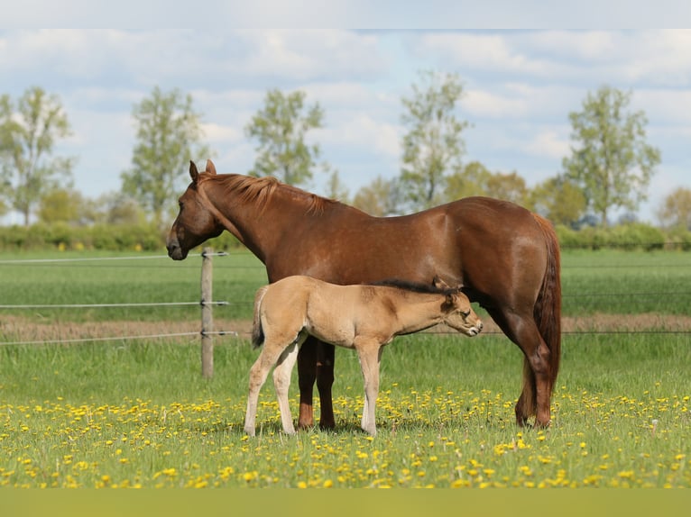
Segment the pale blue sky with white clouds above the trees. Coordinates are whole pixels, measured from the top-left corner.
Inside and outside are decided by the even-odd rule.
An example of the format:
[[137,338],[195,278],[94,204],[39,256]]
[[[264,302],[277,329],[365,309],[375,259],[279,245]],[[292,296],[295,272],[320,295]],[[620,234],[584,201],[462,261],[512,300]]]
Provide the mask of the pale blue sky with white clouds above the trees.
[[[648,141],[662,155],[640,220],[657,222],[664,197],[691,186],[691,30],[31,24],[0,29],[0,94],[18,98],[41,86],[59,96],[73,134],[56,153],[77,157],[75,187],[88,197],[120,189],[135,143],[134,104],[155,86],[192,95],[217,171],[241,174],[253,166],[256,143],[244,127],[266,92],[304,91],[325,111],[311,138],[355,195],[376,177],[400,174],[401,98],[421,70],[455,73],[464,84],[456,114],[470,122],[466,162],[515,171],[528,186],[557,175],[573,143],[568,113],[608,85],[631,91],[630,109],[646,113]],[[207,159],[191,158],[201,167]],[[181,188],[187,168],[181,164]],[[317,173],[308,189],[326,194],[326,176]]]

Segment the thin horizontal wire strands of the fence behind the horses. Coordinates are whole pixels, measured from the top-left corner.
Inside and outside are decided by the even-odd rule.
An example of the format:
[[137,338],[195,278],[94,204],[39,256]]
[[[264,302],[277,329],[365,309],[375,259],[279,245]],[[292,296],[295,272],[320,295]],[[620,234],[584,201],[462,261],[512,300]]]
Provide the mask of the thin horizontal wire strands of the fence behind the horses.
[[[201,252],[201,253],[190,253],[189,257],[229,257],[230,255],[225,251],[218,252]],[[64,267],[81,267],[81,268],[102,268],[102,267],[125,267],[125,268],[147,268],[148,266],[138,263],[136,265],[128,265],[127,261],[131,260],[155,260],[155,259],[168,259],[167,255],[147,255],[147,256],[124,256],[124,257],[85,257],[85,258],[67,258],[67,259],[0,259],[0,266],[54,266],[58,268]],[[115,266],[117,263],[117,266]],[[121,266],[124,265],[124,266]],[[161,268],[161,264],[155,264],[150,266],[151,268]],[[170,264],[167,267],[180,268],[180,265]],[[189,267],[199,268],[198,264],[192,263]],[[569,268],[640,268],[648,267],[648,265],[626,263],[626,264],[611,264],[611,265],[575,265],[569,266],[564,265],[564,269]],[[668,264],[664,265],[665,268],[687,268],[688,265],[685,264]],[[247,266],[247,265],[233,265],[233,264],[223,264],[220,268],[224,269],[234,269],[234,268],[256,268],[263,269],[261,264]],[[690,283],[691,284],[691,283]],[[691,285],[690,285],[691,286]],[[678,290],[673,292],[661,292],[661,291],[636,291],[636,292],[599,292],[599,293],[572,293],[564,294],[563,298],[622,298],[622,297],[641,297],[641,296],[659,296],[661,298],[668,296],[689,296],[691,298],[691,290]],[[4,311],[23,311],[32,309],[100,309],[100,308],[124,308],[124,307],[175,307],[175,306],[250,306],[253,304],[253,299],[247,300],[236,300],[233,302],[228,301],[195,301],[195,302],[151,302],[151,303],[120,303],[120,304],[0,304],[0,310]],[[690,302],[691,306],[691,302]],[[428,334],[455,334],[455,331],[445,331],[445,330],[435,330],[428,331]],[[503,335],[502,331],[484,331],[485,335]],[[691,334],[691,331],[684,329],[679,330],[665,330],[665,329],[636,329],[636,330],[603,330],[603,329],[592,329],[592,330],[577,330],[577,331],[563,331],[563,335],[579,335],[579,334],[603,334],[603,335],[627,335],[627,334]],[[157,340],[165,338],[180,338],[180,337],[191,337],[191,336],[234,336],[238,337],[240,334],[237,331],[189,331],[189,332],[169,332],[169,333],[147,333],[147,334],[136,334],[136,335],[119,335],[119,336],[101,336],[101,337],[88,337],[88,338],[75,338],[75,339],[49,339],[49,340],[14,340],[0,342],[1,345],[39,345],[39,344],[74,344],[74,343],[86,343],[86,342],[99,342],[99,341],[121,341],[121,340]]]

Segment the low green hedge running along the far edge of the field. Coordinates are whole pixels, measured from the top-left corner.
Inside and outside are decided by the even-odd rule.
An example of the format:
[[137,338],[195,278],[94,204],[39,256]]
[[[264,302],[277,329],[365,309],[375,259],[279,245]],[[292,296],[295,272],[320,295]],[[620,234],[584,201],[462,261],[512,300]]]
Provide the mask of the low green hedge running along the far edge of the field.
[[[563,249],[683,249],[691,250],[691,231],[660,230],[641,223],[622,224],[611,228],[587,227],[571,230],[557,226]],[[67,224],[33,224],[0,227],[0,250],[16,249],[103,249],[163,250],[166,231],[150,224],[72,227]],[[224,232],[209,241],[214,249],[235,249],[240,243]]]

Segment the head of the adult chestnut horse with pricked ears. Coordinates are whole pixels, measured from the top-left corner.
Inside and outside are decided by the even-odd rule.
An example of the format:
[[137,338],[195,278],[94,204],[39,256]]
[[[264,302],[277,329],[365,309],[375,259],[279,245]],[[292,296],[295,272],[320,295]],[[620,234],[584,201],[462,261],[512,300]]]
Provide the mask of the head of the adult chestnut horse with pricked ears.
[[[201,174],[216,174],[216,168],[210,159],[207,160],[207,169]],[[180,213],[166,239],[168,255],[174,260],[185,259],[190,249],[207,239],[217,237],[223,231],[223,225],[209,211],[199,195],[200,173],[192,161],[189,162],[189,176],[192,183],[180,196]]]

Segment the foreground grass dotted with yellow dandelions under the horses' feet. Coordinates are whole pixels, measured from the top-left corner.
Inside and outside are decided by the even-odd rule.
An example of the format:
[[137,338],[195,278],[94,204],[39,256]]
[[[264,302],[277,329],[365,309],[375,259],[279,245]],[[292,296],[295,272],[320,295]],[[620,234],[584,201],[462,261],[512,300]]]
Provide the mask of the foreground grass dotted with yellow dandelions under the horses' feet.
[[8,346],[0,485],[691,487],[688,337],[564,345],[548,431],[513,423],[521,360],[507,340],[417,335],[384,352],[374,439],[358,430],[355,354],[339,349],[336,431],[283,435],[269,381],[249,440],[244,340],[217,346],[210,380],[197,346]]

